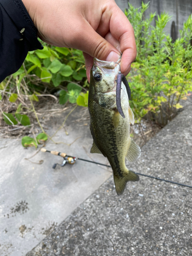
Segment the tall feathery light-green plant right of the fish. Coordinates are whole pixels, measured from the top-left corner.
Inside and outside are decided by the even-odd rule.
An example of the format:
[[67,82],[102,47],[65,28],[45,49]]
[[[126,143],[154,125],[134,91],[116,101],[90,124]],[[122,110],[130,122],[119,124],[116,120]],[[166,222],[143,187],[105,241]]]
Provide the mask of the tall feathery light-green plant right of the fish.
[[[175,109],[182,108],[180,99],[186,99],[192,90],[192,16],[184,23],[180,38],[173,42],[164,32],[170,16],[162,13],[156,18],[156,13],[151,13],[145,18],[148,6],[149,3],[142,3],[141,8],[130,5],[125,11],[134,28],[137,45],[137,57],[127,77],[132,89],[130,104],[137,122],[148,113],[164,126]],[[152,26],[154,19],[155,27]]]

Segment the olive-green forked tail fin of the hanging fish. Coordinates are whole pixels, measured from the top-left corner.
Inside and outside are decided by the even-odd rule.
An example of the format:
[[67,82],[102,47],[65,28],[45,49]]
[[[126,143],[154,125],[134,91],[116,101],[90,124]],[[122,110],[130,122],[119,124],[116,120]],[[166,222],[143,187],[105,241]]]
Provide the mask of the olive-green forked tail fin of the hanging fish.
[[113,177],[118,196],[123,194],[127,181],[139,181],[139,176],[132,170],[128,170],[128,173],[126,172],[126,175],[124,177],[118,177],[115,174],[113,175]]

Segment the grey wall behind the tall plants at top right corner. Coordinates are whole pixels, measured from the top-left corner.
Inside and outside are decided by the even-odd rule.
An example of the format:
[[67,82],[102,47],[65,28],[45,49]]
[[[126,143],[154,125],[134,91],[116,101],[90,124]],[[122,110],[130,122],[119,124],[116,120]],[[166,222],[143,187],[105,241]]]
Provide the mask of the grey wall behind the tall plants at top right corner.
[[[141,6],[141,0],[115,0],[117,5],[124,11],[128,8],[128,2],[134,7]],[[143,0],[144,3],[148,3],[148,0]],[[172,37],[175,38],[179,35],[179,30],[183,28],[183,22],[185,22],[188,16],[192,13],[192,0],[151,0],[150,7],[146,11],[146,17],[149,13],[156,12],[161,14],[161,12],[167,12],[172,19],[168,22],[165,30],[171,34],[171,29],[174,31],[175,23],[175,33],[172,32]],[[174,22],[174,23],[173,23]],[[155,25],[155,24],[154,24]]]

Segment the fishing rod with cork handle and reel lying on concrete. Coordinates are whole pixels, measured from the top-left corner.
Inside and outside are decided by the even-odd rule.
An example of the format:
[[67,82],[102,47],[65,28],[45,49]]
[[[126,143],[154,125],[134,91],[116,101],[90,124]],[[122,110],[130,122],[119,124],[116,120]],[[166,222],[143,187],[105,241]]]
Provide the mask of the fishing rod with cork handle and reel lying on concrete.
[[[111,168],[111,165],[106,165],[106,164],[103,164],[103,163],[98,163],[98,162],[90,161],[90,160],[87,160],[87,159],[82,159],[82,158],[79,158],[79,157],[72,157],[72,156],[67,155],[66,153],[60,153],[58,151],[48,151],[48,150],[46,150],[46,148],[41,148],[40,151],[41,152],[48,152],[48,153],[51,153],[52,155],[60,156],[60,157],[63,158],[63,162],[61,164],[55,163],[52,167],[53,169],[55,169],[57,165],[64,166],[67,163],[73,165],[73,164],[75,164],[76,160],[86,161],[86,162],[89,162],[89,163],[95,163],[95,164],[99,164],[99,165]],[[147,178],[155,179],[155,180],[160,180],[160,181],[165,181],[165,182],[168,182],[168,183],[173,183],[173,184],[180,185],[180,186],[183,186],[183,187],[192,188],[192,186],[182,184],[182,183],[178,183],[178,182],[175,182],[175,181],[165,180],[165,179],[161,179],[161,178],[158,178],[158,177],[153,177],[153,176],[146,175],[146,174],[140,174],[140,173],[136,173],[136,174],[138,174],[140,176],[147,177]]]

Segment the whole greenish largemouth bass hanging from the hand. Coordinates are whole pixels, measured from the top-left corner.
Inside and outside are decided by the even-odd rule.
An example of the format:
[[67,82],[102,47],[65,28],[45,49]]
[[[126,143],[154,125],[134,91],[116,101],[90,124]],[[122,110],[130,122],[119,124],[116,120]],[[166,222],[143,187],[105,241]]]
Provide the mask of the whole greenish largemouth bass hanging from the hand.
[[[91,153],[102,154],[109,160],[117,195],[122,195],[128,181],[138,181],[139,176],[125,165],[135,161],[141,154],[140,147],[130,137],[130,122],[134,114],[129,97],[121,82],[120,105],[117,108],[116,89],[120,73],[120,59],[117,62],[94,58],[90,74],[88,109],[90,130],[93,137]],[[126,79],[126,78],[125,78]]]

